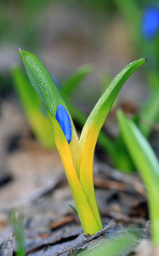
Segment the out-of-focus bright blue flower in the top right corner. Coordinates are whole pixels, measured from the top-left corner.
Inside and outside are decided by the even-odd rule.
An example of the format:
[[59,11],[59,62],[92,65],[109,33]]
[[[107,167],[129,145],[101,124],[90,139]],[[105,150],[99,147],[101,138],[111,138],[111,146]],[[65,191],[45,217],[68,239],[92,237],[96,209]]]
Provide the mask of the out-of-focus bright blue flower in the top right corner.
[[146,39],[153,39],[159,32],[159,9],[151,7],[145,10],[142,20],[142,33]]

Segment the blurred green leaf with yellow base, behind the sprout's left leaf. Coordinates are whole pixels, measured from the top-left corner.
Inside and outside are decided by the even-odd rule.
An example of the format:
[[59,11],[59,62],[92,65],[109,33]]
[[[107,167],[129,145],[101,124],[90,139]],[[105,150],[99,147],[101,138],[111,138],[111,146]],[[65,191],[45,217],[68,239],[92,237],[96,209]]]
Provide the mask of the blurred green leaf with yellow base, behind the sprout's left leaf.
[[26,118],[37,140],[46,148],[55,148],[54,137],[49,125],[48,117],[43,113],[43,103],[31,86],[26,74],[20,67],[12,68],[14,87],[20,103],[26,113]]

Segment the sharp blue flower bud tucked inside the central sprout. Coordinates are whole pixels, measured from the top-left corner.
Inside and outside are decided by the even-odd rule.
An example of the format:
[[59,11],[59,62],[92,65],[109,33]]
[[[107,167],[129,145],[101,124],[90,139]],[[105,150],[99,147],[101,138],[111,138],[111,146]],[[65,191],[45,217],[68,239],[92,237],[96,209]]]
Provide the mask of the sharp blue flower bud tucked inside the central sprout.
[[63,105],[58,106],[56,111],[56,119],[58,120],[60,127],[65,134],[67,142],[71,143],[71,122]]

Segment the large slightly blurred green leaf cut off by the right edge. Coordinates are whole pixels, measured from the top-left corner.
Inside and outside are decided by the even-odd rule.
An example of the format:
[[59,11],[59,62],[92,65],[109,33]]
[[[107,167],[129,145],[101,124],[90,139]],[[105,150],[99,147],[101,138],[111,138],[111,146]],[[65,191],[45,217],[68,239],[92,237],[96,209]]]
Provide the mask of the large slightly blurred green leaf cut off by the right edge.
[[139,128],[122,111],[117,112],[122,137],[132,156],[135,166],[145,183],[148,195],[152,240],[159,245],[159,163],[150,143]]

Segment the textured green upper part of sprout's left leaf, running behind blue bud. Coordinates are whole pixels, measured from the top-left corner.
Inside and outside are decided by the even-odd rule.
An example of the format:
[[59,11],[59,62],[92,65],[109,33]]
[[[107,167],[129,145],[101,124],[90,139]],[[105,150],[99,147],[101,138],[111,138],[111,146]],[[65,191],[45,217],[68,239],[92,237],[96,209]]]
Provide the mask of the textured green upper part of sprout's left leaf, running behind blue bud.
[[62,96],[60,95],[60,91],[54,83],[54,79],[51,77],[50,73],[48,73],[48,70],[43,65],[42,61],[40,61],[35,55],[32,55],[23,49],[19,49],[19,52],[21,60],[26,67],[26,73],[31,80],[31,84],[37,91],[37,95],[42,100],[44,106],[46,106],[49,112],[55,116],[56,110],[61,104],[65,107],[65,110],[69,114],[72,129],[71,143],[69,145],[74,163],[76,163],[78,146],[77,131],[73,124],[73,120],[71,119],[71,114],[69,113],[69,110]]

